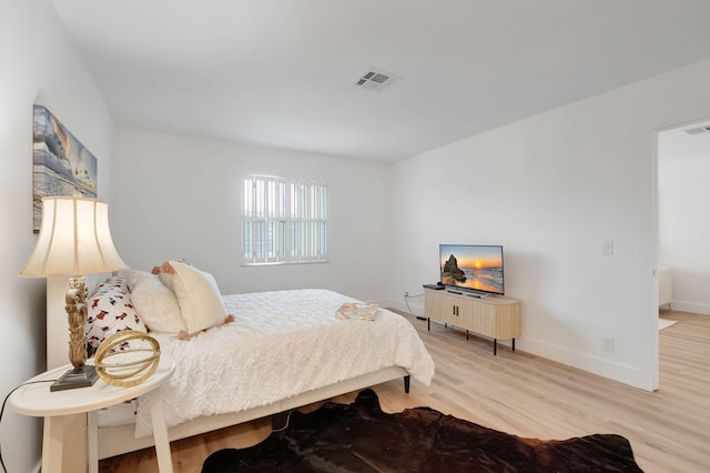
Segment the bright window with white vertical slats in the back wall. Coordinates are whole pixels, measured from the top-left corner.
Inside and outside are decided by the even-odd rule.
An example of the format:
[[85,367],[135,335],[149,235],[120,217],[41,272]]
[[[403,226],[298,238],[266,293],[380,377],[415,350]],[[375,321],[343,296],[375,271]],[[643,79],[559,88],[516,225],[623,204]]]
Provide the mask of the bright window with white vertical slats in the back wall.
[[248,175],[242,189],[244,264],[327,261],[327,187]]

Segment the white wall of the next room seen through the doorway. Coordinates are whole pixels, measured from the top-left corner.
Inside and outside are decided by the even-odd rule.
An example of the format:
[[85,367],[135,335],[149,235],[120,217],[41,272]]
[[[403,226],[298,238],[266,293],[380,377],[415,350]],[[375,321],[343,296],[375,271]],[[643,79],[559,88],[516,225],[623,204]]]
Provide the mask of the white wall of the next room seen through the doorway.
[[658,175],[658,258],[671,269],[672,308],[710,315],[710,157],[661,160]]

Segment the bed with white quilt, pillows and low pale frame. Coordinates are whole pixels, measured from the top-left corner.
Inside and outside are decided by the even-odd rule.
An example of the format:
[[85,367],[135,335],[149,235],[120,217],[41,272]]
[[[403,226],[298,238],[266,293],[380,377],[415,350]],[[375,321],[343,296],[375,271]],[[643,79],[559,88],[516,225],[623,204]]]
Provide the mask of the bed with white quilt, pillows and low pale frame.
[[[212,285],[216,288],[213,280]],[[215,318],[217,323],[196,332],[187,323],[192,336],[184,338],[175,333],[179,326],[166,330],[165,323],[171,316],[174,321],[175,310],[185,314],[190,309],[180,298],[178,306],[166,302],[166,286],[170,284],[148,272],[129,272],[124,280],[112,278],[103,284],[103,292],[100,285],[90,296],[93,308],[87,332],[89,336],[92,330],[110,334],[112,330],[161,329],[149,333],[176,365],[162,389],[171,441],[395,379],[403,379],[403,392],[408,392],[409,376],[429,385],[434,375],[434,362],[409,321],[383,309],[376,311],[374,321],[337,318],[344,303],[359,301],[333,291],[219,294],[234,321],[222,323]],[[180,291],[174,286],[170,292]],[[204,301],[199,306],[205,306]],[[121,316],[115,319],[111,311]],[[118,322],[97,329],[97,313],[105,313],[104,325],[114,319]],[[148,401],[101,411],[99,457],[151,446],[151,433]]]

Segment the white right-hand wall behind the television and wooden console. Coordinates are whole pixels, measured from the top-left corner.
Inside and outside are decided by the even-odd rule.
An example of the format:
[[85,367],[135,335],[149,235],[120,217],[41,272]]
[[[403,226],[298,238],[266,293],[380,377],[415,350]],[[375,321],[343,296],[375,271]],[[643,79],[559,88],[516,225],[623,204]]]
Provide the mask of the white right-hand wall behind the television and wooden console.
[[519,349],[656,388],[656,133],[710,115],[708,80],[696,63],[399,162],[394,294],[437,280],[442,242],[504,244]]

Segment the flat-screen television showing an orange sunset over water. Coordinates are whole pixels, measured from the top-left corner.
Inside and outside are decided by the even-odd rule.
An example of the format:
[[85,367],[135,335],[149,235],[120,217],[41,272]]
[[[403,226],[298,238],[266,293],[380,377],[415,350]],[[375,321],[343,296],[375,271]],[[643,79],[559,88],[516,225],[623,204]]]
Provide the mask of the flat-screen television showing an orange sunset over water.
[[488,244],[440,244],[442,284],[469,292],[505,293],[503,246]]

